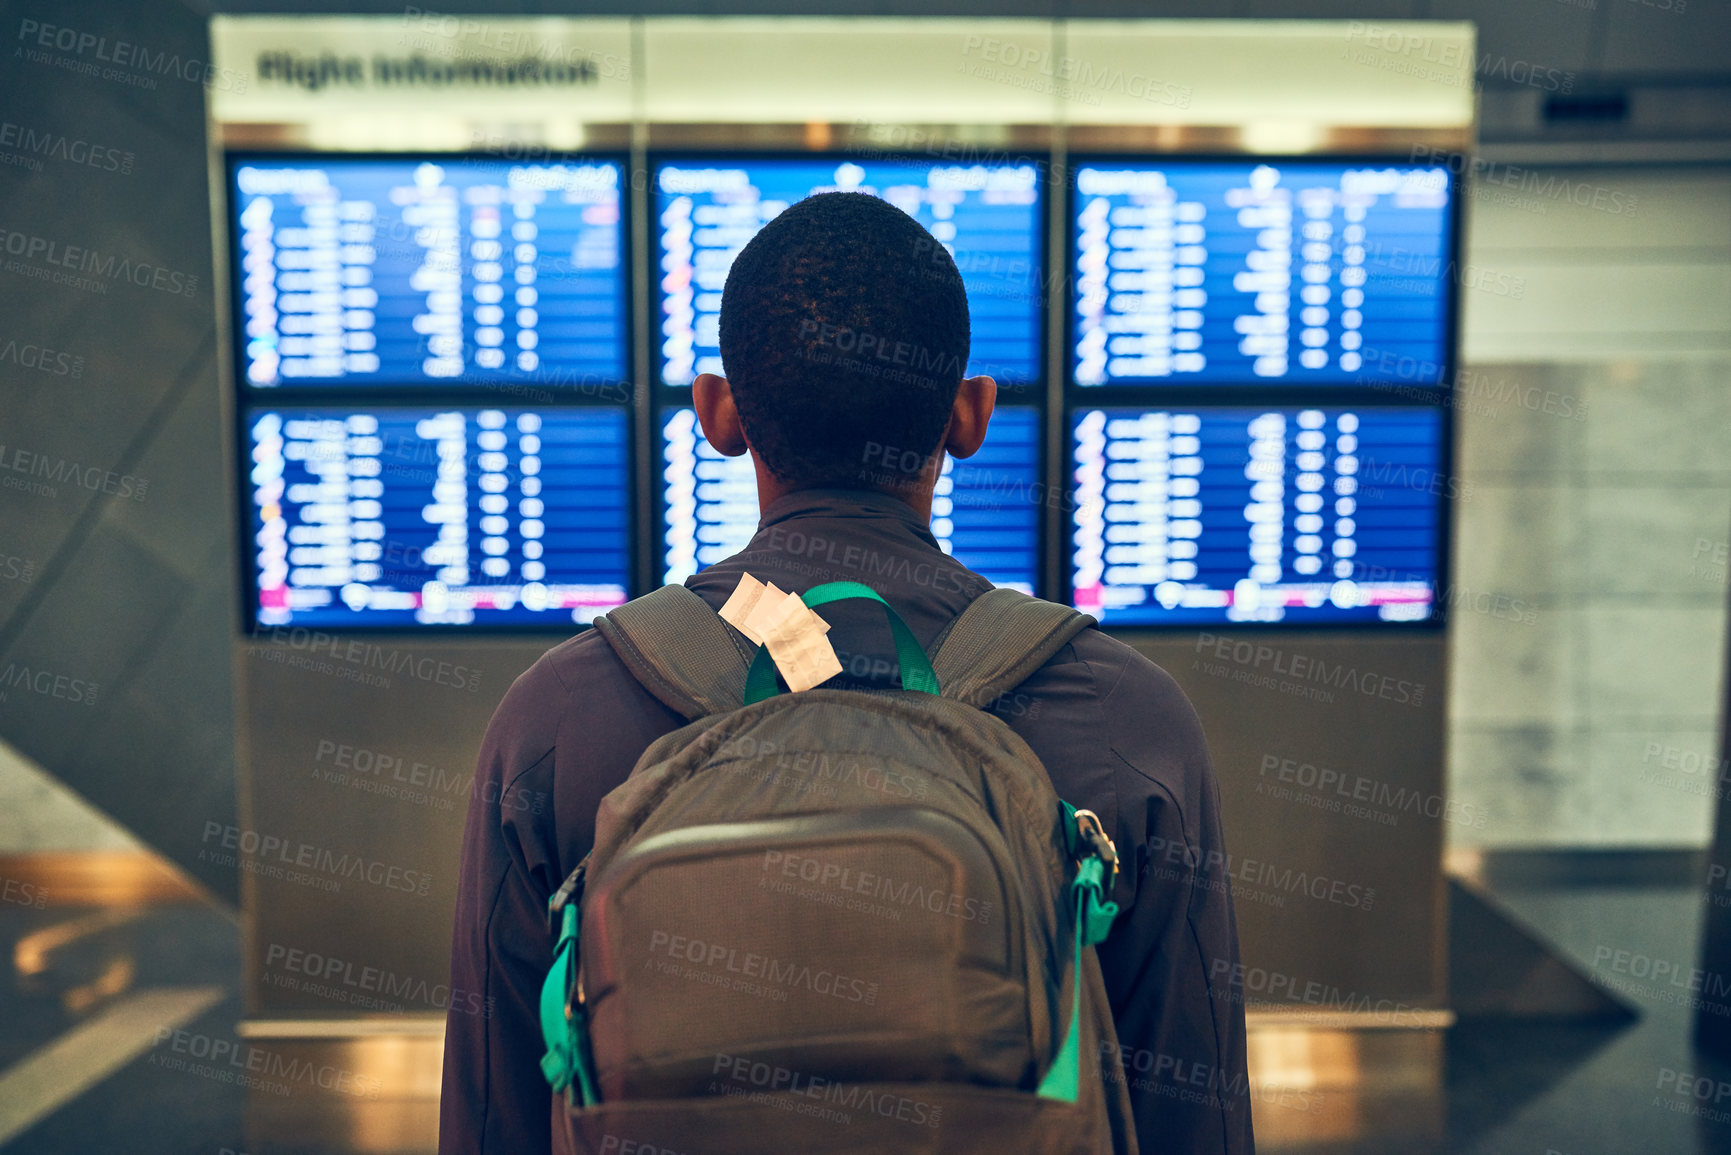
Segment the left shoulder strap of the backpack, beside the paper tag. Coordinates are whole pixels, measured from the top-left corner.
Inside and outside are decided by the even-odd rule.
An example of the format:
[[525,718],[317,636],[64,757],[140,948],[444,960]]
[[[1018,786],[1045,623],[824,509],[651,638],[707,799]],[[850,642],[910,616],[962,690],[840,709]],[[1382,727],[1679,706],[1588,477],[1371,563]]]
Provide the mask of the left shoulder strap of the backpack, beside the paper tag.
[[595,629],[632,677],[685,720],[744,705],[755,648],[684,585],[628,601],[595,618]]

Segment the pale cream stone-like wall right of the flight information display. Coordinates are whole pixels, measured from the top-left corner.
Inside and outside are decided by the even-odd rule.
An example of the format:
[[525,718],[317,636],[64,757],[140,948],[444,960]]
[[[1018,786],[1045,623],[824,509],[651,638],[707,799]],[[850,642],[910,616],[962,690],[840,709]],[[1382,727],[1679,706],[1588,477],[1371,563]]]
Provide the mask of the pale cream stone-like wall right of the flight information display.
[[1700,849],[1722,771],[1731,171],[1470,201],[1449,791],[1461,847]]

